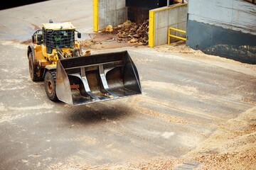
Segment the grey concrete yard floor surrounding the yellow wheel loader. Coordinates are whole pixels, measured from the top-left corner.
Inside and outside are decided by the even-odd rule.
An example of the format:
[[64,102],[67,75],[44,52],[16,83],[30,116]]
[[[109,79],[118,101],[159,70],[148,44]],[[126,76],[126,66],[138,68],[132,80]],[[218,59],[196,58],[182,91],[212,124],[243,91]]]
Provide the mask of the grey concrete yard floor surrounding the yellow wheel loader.
[[[26,45],[41,23],[72,21],[92,32],[92,1],[46,1],[0,11],[0,169],[54,169],[181,157],[219,123],[255,106],[256,72],[226,60],[128,50],[143,94],[69,106],[31,81]],[[65,168],[64,168],[65,169]]]

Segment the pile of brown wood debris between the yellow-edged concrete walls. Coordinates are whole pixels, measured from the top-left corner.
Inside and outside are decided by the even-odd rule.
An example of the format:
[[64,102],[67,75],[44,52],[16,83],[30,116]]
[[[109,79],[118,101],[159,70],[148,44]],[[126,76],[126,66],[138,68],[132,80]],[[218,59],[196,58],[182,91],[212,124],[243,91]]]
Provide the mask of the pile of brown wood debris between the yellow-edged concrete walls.
[[128,40],[129,43],[142,43],[142,45],[148,45],[149,43],[149,20],[143,23],[132,23],[131,21],[125,21],[118,26],[107,26],[99,33],[111,33],[117,35],[117,42]]

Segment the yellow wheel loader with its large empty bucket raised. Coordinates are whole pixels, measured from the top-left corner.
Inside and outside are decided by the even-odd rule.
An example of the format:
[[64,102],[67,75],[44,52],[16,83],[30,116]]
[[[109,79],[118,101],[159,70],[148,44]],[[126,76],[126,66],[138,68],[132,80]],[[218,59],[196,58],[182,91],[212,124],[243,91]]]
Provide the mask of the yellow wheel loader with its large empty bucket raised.
[[43,23],[28,45],[32,81],[44,81],[51,101],[80,105],[142,94],[139,74],[127,51],[90,55],[70,22]]

